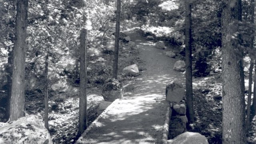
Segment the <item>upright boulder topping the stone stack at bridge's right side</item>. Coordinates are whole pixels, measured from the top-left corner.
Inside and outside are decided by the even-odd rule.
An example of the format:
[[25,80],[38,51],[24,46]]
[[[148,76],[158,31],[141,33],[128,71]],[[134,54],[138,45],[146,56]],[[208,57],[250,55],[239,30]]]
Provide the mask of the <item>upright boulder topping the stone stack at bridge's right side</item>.
[[174,79],[172,82],[166,84],[165,94],[167,101],[180,103],[184,97],[185,89],[177,79]]

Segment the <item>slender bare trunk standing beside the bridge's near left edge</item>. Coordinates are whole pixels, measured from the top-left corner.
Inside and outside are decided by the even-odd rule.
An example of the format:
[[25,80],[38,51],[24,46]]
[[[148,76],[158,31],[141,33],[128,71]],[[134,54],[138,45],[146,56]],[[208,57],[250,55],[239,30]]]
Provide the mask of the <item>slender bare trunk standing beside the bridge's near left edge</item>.
[[87,30],[81,30],[80,36],[80,97],[79,97],[79,126],[78,136],[80,136],[87,128],[87,96],[86,96],[86,76],[87,76]]

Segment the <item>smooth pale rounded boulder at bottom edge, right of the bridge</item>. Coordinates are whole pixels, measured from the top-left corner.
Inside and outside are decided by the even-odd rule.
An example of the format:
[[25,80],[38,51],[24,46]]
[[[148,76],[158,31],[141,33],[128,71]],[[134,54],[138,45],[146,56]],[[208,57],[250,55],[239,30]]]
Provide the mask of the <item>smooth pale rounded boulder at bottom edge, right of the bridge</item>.
[[184,132],[173,140],[167,140],[167,144],[209,144],[206,137],[197,132]]

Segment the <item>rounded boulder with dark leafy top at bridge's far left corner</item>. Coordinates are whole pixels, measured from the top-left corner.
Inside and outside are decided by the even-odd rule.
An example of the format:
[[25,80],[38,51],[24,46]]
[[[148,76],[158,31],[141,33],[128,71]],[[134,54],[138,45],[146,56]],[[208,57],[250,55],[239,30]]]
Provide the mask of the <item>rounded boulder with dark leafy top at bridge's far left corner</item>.
[[118,98],[122,99],[123,95],[124,89],[118,80],[112,78],[106,81],[102,89],[102,96],[104,100],[114,102],[114,100]]

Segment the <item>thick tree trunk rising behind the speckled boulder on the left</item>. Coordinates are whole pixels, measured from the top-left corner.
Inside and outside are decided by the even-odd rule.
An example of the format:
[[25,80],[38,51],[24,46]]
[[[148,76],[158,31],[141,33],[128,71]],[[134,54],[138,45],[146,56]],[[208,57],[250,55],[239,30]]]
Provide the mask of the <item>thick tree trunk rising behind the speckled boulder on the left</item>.
[[24,116],[25,53],[27,36],[28,0],[17,1],[12,90],[10,98],[10,121]]

